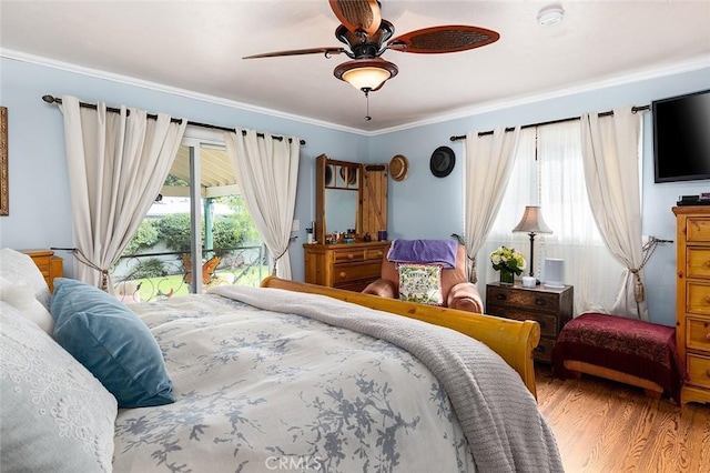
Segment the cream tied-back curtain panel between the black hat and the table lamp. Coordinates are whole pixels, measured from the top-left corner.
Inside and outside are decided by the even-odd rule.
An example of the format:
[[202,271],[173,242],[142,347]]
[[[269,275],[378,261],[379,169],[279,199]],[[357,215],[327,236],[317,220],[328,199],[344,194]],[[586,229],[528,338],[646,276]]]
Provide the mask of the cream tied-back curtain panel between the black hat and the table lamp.
[[[484,244],[500,208],[508,185],[518,148],[520,127],[510,132],[504,128],[493,134],[479,137],[477,132],[466,134],[464,142],[465,165],[465,240],[469,255],[469,280],[478,280],[475,258]],[[483,261],[486,264],[488,259]]]

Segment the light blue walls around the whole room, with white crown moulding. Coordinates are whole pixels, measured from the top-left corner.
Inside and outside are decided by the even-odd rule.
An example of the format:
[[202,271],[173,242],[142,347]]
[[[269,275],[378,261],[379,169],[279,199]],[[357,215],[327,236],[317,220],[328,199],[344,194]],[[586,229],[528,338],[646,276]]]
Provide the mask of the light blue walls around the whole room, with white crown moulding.
[[[239,87],[235,84],[234,87]],[[138,87],[120,81],[0,58],[0,103],[9,111],[10,215],[0,218],[0,246],[49,248],[72,244],[71,208],[61,112],[41,100],[43,94],[70,94],[82,101],[128,104],[189,120],[297,135],[302,148],[295,219],[301,221],[292,250],[294,279],[303,280],[305,228],[314,218],[315,157],[326,153],[347,161],[389,162],[395,154],[409,161],[402,182],[389,182],[389,238],[448,238],[463,233],[462,142],[449,137],[494,127],[535,123],[606,111],[710,88],[710,68],[623,85],[578,92],[535,103],[486,111],[469,117],[374,137],[334,130],[298,120],[244,111],[229,104]],[[466,105],[466,104],[462,104]],[[650,115],[645,117],[643,233],[674,240],[670,211],[680,194],[710,191],[708,181],[653,183]],[[447,178],[429,172],[429,157],[448,145],[457,163]],[[72,274],[71,264],[67,264]],[[646,271],[651,320],[674,324],[674,245],[659,246]]]

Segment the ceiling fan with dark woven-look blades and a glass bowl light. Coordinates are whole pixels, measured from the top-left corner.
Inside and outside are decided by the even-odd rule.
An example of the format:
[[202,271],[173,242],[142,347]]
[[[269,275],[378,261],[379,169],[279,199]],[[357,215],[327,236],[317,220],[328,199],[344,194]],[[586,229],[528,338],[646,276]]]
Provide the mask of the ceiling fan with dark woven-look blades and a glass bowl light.
[[328,0],[328,3],[341,21],[341,26],[335,30],[335,38],[347,48],[295,49],[242,59],[314,53],[323,53],[329,58],[333,54],[345,54],[351,60],[338,64],[333,74],[362,90],[367,97],[369,92],[379,90],[398,72],[397,66],[381,58],[387,50],[419,54],[457,52],[480,48],[500,38],[495,31],[460,24],[424,28],[392,38],[395,27],[382,18],[378,0]]

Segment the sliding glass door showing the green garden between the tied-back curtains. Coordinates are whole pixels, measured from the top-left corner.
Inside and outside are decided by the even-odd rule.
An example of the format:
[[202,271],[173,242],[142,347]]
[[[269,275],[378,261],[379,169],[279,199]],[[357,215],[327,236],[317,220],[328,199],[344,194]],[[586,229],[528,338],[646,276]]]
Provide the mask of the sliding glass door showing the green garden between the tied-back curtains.
[[268,274],[266,246],[220,140],[185,133],[162,191],[112,269],[120,299],[139,302],[219,284],[258,285]]

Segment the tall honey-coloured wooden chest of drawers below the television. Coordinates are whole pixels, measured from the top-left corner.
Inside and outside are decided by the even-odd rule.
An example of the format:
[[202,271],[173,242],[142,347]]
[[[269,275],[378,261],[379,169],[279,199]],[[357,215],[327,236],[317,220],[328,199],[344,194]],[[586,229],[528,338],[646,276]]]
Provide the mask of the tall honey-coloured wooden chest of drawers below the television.
[[710,402],[710,207],[674,207],[676,343],[690,381],[681,404]]

